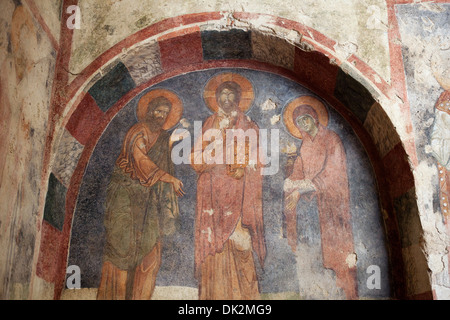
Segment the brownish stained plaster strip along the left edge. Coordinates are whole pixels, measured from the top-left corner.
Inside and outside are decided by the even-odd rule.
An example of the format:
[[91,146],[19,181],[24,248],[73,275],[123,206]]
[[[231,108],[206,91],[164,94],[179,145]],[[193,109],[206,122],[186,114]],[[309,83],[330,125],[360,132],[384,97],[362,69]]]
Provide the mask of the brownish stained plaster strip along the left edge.
[[[27,7],[3,1],[1,14],[2,108],[9,132],[0,186],[0,296],[26,299],[42,192],[40,175],[50,104],[54,51]],[[8,23],[9,22],[9,23]],[[4,113],[5,114],[5,113]]]

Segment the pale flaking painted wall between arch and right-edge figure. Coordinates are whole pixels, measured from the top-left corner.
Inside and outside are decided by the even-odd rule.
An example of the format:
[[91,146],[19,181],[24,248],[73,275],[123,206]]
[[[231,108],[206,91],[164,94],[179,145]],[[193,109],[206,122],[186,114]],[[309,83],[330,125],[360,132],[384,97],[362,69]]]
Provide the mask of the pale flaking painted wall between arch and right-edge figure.
[[[438,299],[448,299],[448,221],[439,208],[437,162],[432,157],[431,130],[435,122],[435,104],[449,79],[448,19],[449,4],[423,3],[399,5],[399,29],[408,84],[408,96],[414,126],[419,164],[414,170],[418,212],[423,230],[416,230],[424,238],[407,250],[414,255],[426,253],[433,289]],[[444,54],[440,54],[440,52]],[[446,80],[447,79],[447,80]],[[414,259],[414,257],[408,258]],[[421,262],[422,263],[422,262]],[[420,287],[419,280],[411,280],[410,287]],[[413,289],[411,289],[413,290]]]

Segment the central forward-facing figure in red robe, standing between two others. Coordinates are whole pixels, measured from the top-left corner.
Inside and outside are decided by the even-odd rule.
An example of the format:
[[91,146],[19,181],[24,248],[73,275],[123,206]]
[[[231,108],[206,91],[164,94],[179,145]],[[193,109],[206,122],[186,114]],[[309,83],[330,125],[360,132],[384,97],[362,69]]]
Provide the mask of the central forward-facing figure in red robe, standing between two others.
[[[238,107],[238,84],[224,82],[216,97],[220,109],[206,119],[203,133],[220,130],[224,144],[227,129],[251,129],[258,135],[258,126]],[[225,160],[207,164],[203,161],[206,144],[201,139],[196,144],[201,145],[194,147],[191,165],[198,173],[195,276],[199,299],[259,299],[253,252],[261,265],[266,254],[260,166],[230,165]]]

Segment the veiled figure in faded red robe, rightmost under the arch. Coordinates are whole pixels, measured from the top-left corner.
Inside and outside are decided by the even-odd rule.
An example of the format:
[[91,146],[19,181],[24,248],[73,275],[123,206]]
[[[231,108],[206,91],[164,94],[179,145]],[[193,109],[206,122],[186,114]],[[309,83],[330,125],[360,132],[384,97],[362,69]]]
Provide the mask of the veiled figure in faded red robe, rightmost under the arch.
[[302,133],[300,154],[285,181],[286,233],[297,250],[297,204],[300,197],[317,197],[323,264],[334,270],[347,299],[356,299],[356,267],[347,264],[354,254],[350,193],[345,150],[338,135],[319,123],[316,111],[301,105],[293,119]]

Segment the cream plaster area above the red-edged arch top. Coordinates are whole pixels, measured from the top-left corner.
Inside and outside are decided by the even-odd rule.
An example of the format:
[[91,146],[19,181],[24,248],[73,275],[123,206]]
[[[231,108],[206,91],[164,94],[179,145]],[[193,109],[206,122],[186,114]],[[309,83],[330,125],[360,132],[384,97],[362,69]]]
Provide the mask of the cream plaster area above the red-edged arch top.
[[[198,12],[250,12],[298,21],[334,39],[345,60],[355,53],[390,81],[387,8],[383,0],[308,1],[80,1],[83,22],[74,33],[70,70],[81,72],[91,61],[126,36],[163,19]],[[137,9],[139,8],[139,9]],[[292,8],[296,8],[292,10]],[[229,16],[228,16],[229,17]],[[227,16],[225,15],[225,21]],[[269,21],[267,21],[269,20]],[[270,18],[236,21],[248,27],[276,29]],[[345,21],[345,23],[343,23]],[[218,24],[220,25],[220,23]],[[262,52],[262,51],[261,51]],[[277,57],[279,58],[279,57]]]

